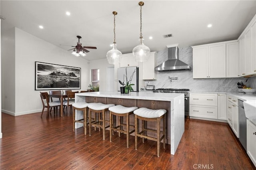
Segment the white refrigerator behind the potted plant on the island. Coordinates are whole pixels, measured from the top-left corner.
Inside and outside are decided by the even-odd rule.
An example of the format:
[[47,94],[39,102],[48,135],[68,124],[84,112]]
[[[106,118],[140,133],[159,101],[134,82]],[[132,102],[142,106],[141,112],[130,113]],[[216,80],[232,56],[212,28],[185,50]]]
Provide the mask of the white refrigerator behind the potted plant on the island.
[[124,83],[126,84],[126,69],[127,69],[127,79],[128,79],[128,81],[131,78],[132,73],[135,71],[130,84],[134,84],[132,86],[132,89],[134,91],[139,91],[139,68],[138,67],[121,67],[121,68],[117,69],[117,78],[118,78],[117,88],[118,88],[118,91],[120,91],[120,87],[123,87],[119,83],[119,80],[121,82],[124,81]]

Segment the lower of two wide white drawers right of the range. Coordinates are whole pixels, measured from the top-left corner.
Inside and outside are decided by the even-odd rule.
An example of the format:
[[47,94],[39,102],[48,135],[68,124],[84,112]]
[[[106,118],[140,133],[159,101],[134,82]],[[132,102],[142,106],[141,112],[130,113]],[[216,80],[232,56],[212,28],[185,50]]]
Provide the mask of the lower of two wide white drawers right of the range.
[[218,119],[217,106],[190,105],[190,116]]

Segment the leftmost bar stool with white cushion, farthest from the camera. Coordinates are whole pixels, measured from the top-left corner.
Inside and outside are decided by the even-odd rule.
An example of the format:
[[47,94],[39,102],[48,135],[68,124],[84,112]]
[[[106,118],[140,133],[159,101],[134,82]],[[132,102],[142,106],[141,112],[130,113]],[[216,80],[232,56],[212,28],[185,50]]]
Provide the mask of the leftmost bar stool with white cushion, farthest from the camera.
[[[88,105],[92,103],[86,103],[86,102],[78,102],[78,103],[73,103],[73,131],[75,131],[75,123],[82,123],[84,124],[84,134],[86,134],[86,126],[87,126],[87,110],[88,110]],[[83,118],[76,120],[76,112],[75,110],[78,111],[83,111]]]

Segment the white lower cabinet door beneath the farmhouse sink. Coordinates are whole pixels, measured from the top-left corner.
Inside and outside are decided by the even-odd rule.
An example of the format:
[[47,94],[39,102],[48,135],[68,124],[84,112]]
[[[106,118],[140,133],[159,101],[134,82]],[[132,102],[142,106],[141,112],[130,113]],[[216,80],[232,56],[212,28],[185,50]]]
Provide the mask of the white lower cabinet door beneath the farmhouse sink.
[[247,120],[247,154],[256,166],[256,125]]

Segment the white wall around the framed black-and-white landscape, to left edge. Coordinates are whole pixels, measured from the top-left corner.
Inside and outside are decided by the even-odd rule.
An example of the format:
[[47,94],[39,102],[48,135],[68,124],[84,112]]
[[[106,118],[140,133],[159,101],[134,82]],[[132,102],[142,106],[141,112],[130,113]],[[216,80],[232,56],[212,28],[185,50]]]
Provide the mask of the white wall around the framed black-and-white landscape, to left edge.
[[[5,42],[2,40],[2,43]],[[2,57],[6,59],[8,55],[2,54]],[[75,57],[69,51],[15,28],[15,68],[11,68],[12,71],[15,71],[14,89],[6,83],[8,76],[2,79],[4,86],[2,90],[15,92],[15,97],[12,98],[12,101],[15,101],[15,108],[2,105],[4,113],[17,116],[42,111],[40,91],[35,90],[35,61],[80,67],[81,89],[86,88],[90,82],[87,60]],[[9,63],[9,65],[14,65],[14,63]],[[6,70],[3,69],[2,71],[5,72]],[[24,98],[26,102],[24,102]],[[4,100],[4,95],[2,95],[2,100]]]

